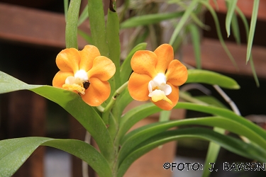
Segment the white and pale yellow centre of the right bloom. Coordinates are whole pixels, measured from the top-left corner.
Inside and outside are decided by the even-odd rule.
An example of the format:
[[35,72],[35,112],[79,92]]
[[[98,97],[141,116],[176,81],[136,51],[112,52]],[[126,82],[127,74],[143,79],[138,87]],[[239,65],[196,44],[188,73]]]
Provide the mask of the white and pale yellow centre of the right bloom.
[[172,101],[167,98],[167,96],[172,92],[172,88],[170,85],[166,84],[165,74],[157,74],[157,76],[149,82],[148,89],[150,92],[149,97],[152,98],[152,101],[157,102],[164,100],[172,105]]

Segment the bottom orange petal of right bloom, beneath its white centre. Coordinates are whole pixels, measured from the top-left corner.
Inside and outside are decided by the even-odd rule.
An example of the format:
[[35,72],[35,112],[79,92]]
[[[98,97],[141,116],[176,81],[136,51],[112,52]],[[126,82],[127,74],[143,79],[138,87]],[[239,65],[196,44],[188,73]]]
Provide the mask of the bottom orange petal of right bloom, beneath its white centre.
[[164,100],[153,102],[150,98],[150,101],[152,101],[155,105],[157,105],[159,108],[163,110],[172,110],[172,108],[174,108],[174,106],[177,105],[177,102],[179,99],[179,89],[177,86],[173,86],[168,81],[167,81],[167,84],[172,87],[172,92],[170,93],[170,95],[167,96],[167,98],[169,98],[170,101],[172,101],[172,105]]

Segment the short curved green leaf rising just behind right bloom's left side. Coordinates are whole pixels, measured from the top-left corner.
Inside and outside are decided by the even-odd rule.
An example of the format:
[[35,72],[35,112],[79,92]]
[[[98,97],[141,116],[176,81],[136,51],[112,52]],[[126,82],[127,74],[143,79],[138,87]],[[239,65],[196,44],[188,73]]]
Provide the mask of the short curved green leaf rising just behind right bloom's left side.
[[132,73],[132,69],[131,69],[131,58],[132,56],[135,54],[135,52],[137,52],[138,50],[145,50],[147,47],[147,43],[143,42],[140,43],[138,45],[136,45],[131,52],[129,52],[128,56],[126,57],[126,59],[123,61],[123,64],[121,65],[121,83],[125,83],[126,81],[128,81],[129,76],[131,76]]

